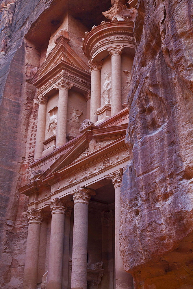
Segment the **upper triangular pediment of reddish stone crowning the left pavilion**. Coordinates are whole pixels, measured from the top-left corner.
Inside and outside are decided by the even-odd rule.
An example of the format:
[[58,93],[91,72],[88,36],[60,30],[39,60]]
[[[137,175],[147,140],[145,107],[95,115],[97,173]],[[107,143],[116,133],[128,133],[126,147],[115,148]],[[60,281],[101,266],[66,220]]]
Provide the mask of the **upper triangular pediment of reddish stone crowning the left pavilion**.
[[45,62],[40,66],[40,69],[30,79],[30,83],[34,84],[37,79],[40,79],[42,75],[45,75],[59,62],[64,61],[77,68],[88,71],[87,64],[77,55],[77,53],[70,47],[68,41],[64,36],[60,36],[57,39],[57,43],[52,51],[47,56]]

